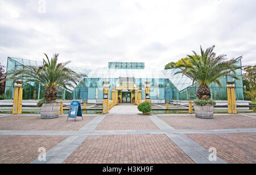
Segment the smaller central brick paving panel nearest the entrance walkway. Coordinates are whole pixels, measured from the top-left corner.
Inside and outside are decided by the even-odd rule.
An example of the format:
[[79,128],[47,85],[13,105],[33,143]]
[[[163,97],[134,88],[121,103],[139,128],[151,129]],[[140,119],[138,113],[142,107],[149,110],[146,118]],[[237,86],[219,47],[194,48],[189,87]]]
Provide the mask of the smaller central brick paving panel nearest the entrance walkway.
[[147,115],[107,115],[96,130],[159,130]]

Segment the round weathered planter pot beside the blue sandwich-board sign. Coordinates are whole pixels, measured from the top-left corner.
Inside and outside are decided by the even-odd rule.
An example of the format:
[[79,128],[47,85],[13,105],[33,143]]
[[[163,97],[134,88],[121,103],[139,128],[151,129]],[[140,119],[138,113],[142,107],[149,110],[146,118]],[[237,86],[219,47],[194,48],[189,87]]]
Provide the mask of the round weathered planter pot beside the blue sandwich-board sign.
[[60,103],[45,103],[41,107],[41,119],[54,119],[60,116]]

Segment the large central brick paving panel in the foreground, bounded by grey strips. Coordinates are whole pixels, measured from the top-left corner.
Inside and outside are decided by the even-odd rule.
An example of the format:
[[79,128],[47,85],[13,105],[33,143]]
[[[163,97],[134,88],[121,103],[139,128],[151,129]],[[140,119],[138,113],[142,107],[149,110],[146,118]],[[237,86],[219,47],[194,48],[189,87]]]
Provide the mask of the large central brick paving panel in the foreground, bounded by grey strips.
[[166,135],[89,136],[65,164],[193,163]]

